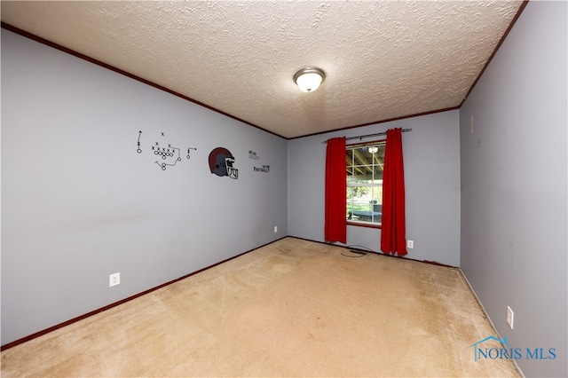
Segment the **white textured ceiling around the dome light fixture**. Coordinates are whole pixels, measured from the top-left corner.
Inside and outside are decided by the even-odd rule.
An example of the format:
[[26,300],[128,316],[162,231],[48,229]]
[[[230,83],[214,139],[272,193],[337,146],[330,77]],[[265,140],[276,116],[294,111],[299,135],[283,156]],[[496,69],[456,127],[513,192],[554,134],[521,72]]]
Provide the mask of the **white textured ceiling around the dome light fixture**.
[[[285,138],[460,106],[520,1],[2,1],[2,21]],[[319,67],[318,91],[292,77]]]

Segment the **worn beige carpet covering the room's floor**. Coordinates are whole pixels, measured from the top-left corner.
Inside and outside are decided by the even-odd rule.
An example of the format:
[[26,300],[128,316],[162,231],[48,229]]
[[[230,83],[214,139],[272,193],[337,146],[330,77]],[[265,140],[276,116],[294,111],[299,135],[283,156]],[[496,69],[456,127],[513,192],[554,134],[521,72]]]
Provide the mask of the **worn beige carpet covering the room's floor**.
[[474,361],[495,333],[457,269],[342,253],[279,240],[4,350],[2,376],[518,376]]

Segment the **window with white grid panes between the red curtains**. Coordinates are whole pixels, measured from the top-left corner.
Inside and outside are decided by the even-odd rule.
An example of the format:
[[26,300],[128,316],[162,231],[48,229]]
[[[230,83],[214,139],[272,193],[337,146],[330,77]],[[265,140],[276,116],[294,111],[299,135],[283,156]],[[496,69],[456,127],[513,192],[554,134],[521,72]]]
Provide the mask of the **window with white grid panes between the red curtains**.
[[385,141],[351,145],[347,159],[347,222],[380,226]]

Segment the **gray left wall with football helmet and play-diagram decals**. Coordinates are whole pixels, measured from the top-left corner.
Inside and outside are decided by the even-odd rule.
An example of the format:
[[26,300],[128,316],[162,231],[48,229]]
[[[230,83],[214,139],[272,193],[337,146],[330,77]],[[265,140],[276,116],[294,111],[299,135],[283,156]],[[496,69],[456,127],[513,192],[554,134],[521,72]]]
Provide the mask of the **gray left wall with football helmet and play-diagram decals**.
[[2,344],[280,239],[287,182],[285,139],[2,29]]

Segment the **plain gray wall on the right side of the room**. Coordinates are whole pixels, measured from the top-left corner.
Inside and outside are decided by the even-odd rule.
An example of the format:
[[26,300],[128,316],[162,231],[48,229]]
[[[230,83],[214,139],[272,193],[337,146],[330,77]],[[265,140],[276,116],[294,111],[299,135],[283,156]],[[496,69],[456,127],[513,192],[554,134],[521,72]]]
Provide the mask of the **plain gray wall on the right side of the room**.
[[527,376],[568,375],[566,5],[530,2],[460,110],[461,269],[512,347],[556,348]]

